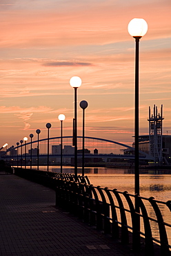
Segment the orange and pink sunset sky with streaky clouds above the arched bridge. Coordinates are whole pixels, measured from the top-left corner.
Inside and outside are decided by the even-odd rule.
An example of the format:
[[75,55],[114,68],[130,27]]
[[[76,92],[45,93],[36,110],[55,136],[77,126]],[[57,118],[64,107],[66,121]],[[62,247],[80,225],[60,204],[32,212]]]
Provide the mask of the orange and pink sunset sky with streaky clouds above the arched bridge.
[[171,135],[170,0],[0,0],[1,146],[41,129],[46,138],[72,136],[74,90],[88,101],[86,136],[131,145],[134,136],[134,39],[128,23],[148,23],[140,40],[140,134],[148,107],[163,104],[163,134]]

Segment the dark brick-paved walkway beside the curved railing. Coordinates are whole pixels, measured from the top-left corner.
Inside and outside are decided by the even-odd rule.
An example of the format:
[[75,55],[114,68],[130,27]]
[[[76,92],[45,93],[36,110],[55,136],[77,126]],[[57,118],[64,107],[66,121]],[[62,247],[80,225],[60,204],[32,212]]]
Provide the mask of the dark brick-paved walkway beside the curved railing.
[[54,190],[43,185],[0,172],[0,205],[0,255],[132,255],[55,208]]

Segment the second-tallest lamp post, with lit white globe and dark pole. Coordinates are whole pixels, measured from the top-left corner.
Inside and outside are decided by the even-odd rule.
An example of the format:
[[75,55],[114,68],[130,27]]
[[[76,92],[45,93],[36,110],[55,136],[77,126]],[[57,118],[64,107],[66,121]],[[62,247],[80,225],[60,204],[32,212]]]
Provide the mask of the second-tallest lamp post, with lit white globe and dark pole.
[[70,86],[74,88],[74,125],[73,125],[73,142],[74,142],[74,177],[77,180],[77,88],[81,86],[81,78],[73,76],[70,79]]

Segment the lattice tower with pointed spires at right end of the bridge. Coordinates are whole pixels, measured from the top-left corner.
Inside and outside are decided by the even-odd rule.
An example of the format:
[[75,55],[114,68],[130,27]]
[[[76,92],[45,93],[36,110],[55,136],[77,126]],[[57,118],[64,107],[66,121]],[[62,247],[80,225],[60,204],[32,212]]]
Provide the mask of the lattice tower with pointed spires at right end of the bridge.
[[163,105],[161,105],[161,113],[158,113],[157,107],[154,105],[153,113],[149,107],[149,143],[150,155],[154,157],[155,164],[162,162],[162,121],[163,121]]

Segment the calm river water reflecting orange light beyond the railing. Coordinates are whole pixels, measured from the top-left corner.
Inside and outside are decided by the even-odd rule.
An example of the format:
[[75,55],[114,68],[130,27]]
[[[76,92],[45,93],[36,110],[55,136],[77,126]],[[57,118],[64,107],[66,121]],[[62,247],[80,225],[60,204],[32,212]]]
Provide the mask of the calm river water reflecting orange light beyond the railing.
[[[46,167],[39,167],[39,170],[46,170]],[[52,172],[60,172],[60,167],[50,167]],[[63,172],[74,174],[74,167],[63,167]],[[78,168],[81,174],[81,168]],[[118,168],[85,168],[85,175],[90,179],[91,184],[101,188],[117,188],[123,192],[128,191],[134,194],[134,170]],[[144,170],[140,171],[140,194],[161,201],[171,200],[171,170]]]

